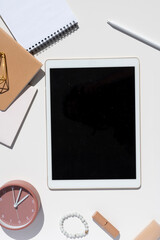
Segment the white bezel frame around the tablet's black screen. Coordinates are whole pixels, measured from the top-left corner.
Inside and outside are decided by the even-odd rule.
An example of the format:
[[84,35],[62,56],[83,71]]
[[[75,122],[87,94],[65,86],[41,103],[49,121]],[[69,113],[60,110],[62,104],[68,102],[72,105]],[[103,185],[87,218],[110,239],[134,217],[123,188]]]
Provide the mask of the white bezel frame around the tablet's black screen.
[[[50,113],[50,69],[86,67],[135,67],[135,112],[136,112],[136,179],[116,180],[53,180]],[[137,58],[108,59],[49,59],[46,61],[46,116],[47,116],[47,162],[48,187],[50,189],[119,189],[139,188],[140,176],[140,84],[139,60]]]

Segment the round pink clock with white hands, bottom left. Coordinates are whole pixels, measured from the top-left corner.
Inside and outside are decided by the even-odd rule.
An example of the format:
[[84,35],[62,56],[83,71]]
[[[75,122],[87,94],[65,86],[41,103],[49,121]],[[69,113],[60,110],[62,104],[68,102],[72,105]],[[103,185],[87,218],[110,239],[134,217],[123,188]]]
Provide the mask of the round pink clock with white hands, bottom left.
[[0,225],[19,230],[29,226],[40,208],[40,196],[28,182],[14,180],[0,188]]

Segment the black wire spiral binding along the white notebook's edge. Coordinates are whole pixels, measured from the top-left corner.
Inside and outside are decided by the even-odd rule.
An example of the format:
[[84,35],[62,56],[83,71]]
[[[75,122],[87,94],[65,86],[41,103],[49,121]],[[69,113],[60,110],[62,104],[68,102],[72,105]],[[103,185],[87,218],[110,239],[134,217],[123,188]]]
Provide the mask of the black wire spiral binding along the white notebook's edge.
[[58,41],[62,40],[63,38],[67,37],[74,31],[76,31],[79,28],[78,22],[71,22],[64,26],[63,28],[60,28],[56,32],[50,34],[46,38],[40,40],[38,43],[34,44],[32,47],[26,49],[31,54],[36,54],[43,49],[49,47],[50,45],[57,43]]

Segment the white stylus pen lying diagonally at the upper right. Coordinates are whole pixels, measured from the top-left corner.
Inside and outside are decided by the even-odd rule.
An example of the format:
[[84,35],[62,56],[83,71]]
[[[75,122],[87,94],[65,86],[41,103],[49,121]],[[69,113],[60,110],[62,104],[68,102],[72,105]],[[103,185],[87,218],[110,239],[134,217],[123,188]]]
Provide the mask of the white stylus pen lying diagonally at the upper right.
[[152,42],[150,39],[147,39],[147,38],[144,38],[138,34],[136,34],[135,32],[131,32],[130,30],[122,27],[122,26],[119,26],[117,25],[116,23],[112,22],[112,21],[107,21],[107,23],[114,29],[132,37],[132,38],[135,38],[136,40],[139,40],[147,45],[149,45],[150,47],[153,47],[157,50],[160,50],[160,45],[158,45],[157,43],[154,43]]

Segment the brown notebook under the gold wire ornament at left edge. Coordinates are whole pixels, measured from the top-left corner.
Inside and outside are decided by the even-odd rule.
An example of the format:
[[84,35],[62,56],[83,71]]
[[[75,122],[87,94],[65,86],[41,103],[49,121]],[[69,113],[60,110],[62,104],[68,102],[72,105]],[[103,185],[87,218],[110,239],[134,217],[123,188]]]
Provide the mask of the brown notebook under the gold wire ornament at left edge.
[[[0,93],[0,110],[6,110],[40,70],[42,64],[0,28],[0,52],[5,53],[9,90]],[[2,58],[0,59],[2,63]],[[3,69],[1,64],[1,88]]]

